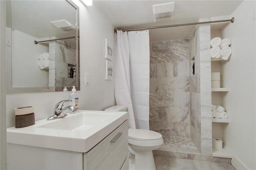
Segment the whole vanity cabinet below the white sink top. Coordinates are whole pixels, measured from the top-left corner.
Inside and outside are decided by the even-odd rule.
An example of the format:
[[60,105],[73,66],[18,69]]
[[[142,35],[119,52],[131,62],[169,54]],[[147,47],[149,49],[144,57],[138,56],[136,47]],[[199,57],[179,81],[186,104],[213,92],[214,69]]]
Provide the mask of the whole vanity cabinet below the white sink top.
[[127,120],[86,153],[7,143],[11,170],[128,170],[128,162]]

